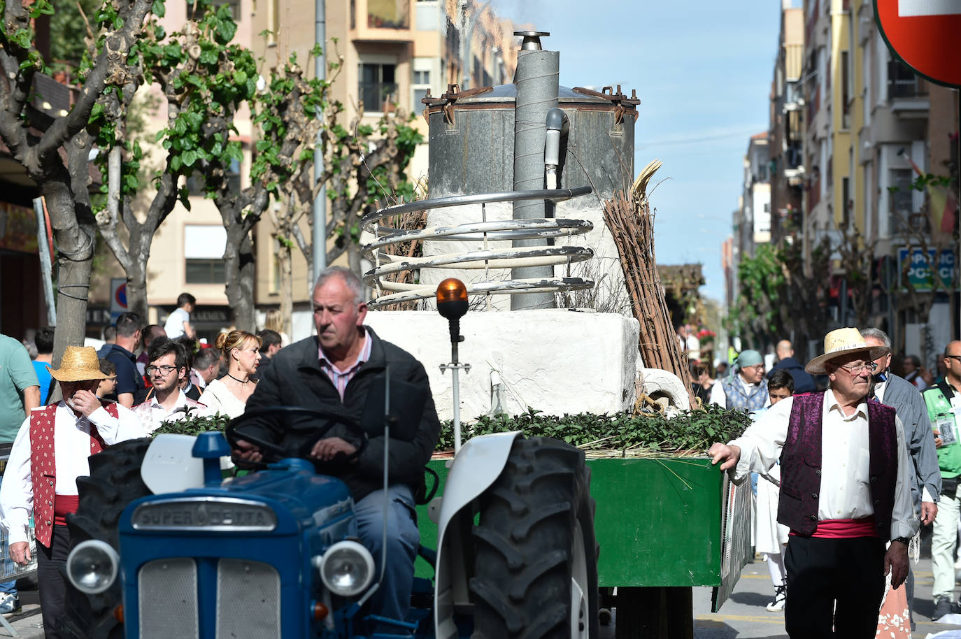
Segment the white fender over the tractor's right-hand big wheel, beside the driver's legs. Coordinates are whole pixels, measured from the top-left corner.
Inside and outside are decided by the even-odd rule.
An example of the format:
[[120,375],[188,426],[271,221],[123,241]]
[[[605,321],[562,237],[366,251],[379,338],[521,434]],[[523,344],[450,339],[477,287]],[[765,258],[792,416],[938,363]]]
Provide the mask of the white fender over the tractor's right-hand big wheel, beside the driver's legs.
[[456,515],[501,476],[520,430],[479,435],[469,439],[454,458],[444,483],[444,495],[437,517],[437,562],[433,594],[433,621],[437,639],[457,636],[454,604],[466,597],[467,581],[457,535],[447,532]]

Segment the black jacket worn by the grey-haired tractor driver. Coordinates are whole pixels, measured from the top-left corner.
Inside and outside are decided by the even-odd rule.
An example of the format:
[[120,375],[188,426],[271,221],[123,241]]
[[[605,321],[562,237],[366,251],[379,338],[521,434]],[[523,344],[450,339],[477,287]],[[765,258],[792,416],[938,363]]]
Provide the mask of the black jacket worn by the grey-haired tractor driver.
[[[360,422],[369,441],[357,461],[339,468],[331,464],[318,466],[319,471],[342,479],[351,489],[355,501],[381,488],[383,483],[382,419],[372,419],[371,413],[372,407],[375,416],[379,410],[382,411],[383,380],[388,363],[392,391],[391,414],[400,412],[399,423],[390,427],[391,483],[406,483],[416,491],[423,481],[424,465],[431,458],[440,434],[440,422],[424,366],[407,351],[383,341],[371,329],[368,328],[367,332],[374,340],[370,359],[347,384],[343,402],[333,382],[320,367],[315,336],[291,344],[273,356],[270,366],[262,371],[257,389],[247,401],[248,411],[266,406],[304,406],[343,414]],[[412,397],[419,400],[412,402]],[[250,426],[241,426],[241,429],[268,441],[283,442],[284,445],[291,444],[285,441],[291,436],[302,438],[302,454],[316,440],[316,437],[311,440],[309,435],[305,435],[303,423],[295,426],[290,420],[283,425],[276,421],[256,420]],[[357,436],[342,426],[333,427],[324,436],[357,441]]]

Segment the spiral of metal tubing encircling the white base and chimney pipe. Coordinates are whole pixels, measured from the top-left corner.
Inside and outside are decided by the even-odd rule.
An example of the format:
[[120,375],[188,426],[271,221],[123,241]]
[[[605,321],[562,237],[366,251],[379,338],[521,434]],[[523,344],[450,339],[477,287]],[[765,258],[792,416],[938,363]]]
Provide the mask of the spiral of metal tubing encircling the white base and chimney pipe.
[[[363,275],[364,283],[375,290],[375,298],[368,306],[377,308],[399,302],[426,300],[434,297],[435,286],[421,283],[394,282],[385,276],[417,271],[422,268],[474,269],[484,271],[482,282],[465,283],[467,294],[473,296],[522,293],[564,292],[591,288],[594,281],[570,277],[570,265],[594,257],[594,251],[580,246],[532,246],[490,248],[489,242],[515,239],[570,237],[588,233],[594,225],[587,220],[556,217],[536,219],[488,220],[487,205],[501,202],[546,200],[556,204],[591,192],[590,186],[557,188],[551,190],[501,191],[478,195],[456,195],[420,200],[409,204],[387,207],[365,215],[361,225],[375,240],[362,248],[365,258],[374,268]],[[457,225],[444,225],[425,229],[396,229],[380,224],[382,220],[402,215],[447,207],[480,204],[480,220]],[[405,242],[431,241],[480,241],[480,250],[461,253],[445,253],[433,256],[407,257],[386,253],[389,246]],[[568,266],[567,277],[518,279],[492,281],[491,269],[519,268],[526,266]]]

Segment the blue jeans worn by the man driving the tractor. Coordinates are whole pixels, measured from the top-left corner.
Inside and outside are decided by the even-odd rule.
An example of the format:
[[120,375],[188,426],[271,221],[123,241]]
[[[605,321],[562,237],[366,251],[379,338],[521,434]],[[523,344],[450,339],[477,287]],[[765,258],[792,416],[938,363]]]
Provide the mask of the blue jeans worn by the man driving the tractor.
[[[402,484],[387,489],[387,569],[383,584],[370,599],[371,614],[390,619],[407,619],[410,590],[414,580],[414,559],[420,547],[420,530],[414,521],[414,497],[410,487]],[[384,520],[383,490],[375,490],[354,504],[357,536],[374,555],[376,572],[381,576],[381,553]]]

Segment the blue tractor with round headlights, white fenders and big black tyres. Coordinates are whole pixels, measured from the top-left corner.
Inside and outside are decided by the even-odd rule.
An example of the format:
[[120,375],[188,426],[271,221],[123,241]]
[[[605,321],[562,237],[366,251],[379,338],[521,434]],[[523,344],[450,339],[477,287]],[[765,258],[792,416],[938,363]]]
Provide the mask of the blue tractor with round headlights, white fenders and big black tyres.
[[347,486],[288,450],[263,450],[274,457],[266,469],[228,479],[219,432],[91,456],[68,517],[67,629],[88,639],[598,636],[594,502],[578,449],[518,432],[465,443],[431,502],[438,548],[421,553],[434,577],[415,581],[403,620],[366,610],[378,561],[357,539]]

